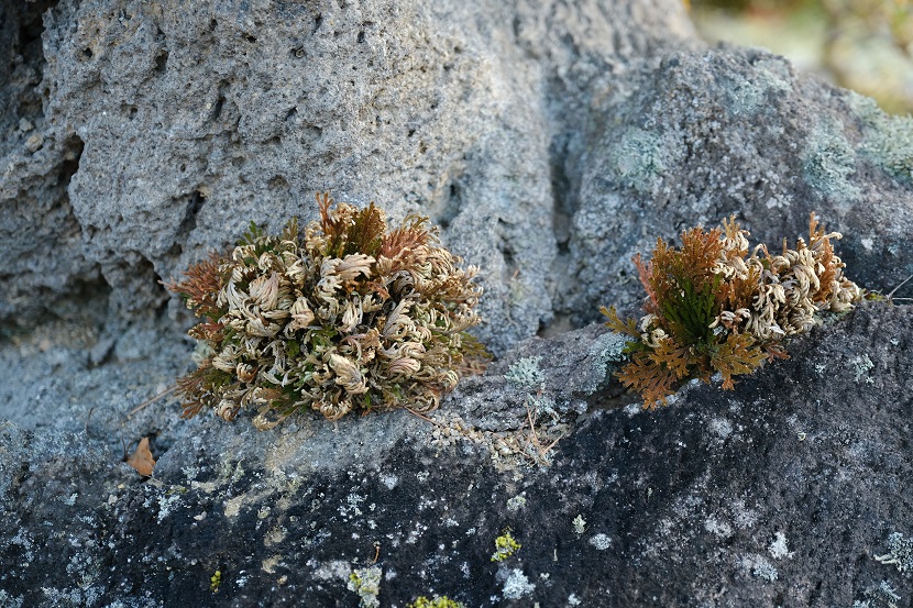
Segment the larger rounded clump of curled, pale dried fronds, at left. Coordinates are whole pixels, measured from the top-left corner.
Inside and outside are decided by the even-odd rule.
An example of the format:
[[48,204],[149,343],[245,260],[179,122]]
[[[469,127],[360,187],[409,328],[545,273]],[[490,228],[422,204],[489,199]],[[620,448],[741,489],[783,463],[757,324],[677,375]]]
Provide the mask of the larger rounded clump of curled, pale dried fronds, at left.
[[484,354],[466,333],[480,318],[477,268],[441,247],[428,219],[387,231],[382,211],[318,196],[320,219],[278,236],[253,223],[230,255],[210,255],[168,289],[202,322],[207,354],[178,380],[184,418],[212,409],[233,420],[256,407],[268,428],[312,408],[435,409],[464,357]]

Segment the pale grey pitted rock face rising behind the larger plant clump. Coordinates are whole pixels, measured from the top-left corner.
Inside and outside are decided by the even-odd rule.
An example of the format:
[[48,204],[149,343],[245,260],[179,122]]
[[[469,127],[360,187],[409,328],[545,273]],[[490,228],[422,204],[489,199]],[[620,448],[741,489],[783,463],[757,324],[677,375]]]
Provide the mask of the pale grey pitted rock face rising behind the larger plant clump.
[[[7,89],[28,99],[3,121],[0,197],[22,222],[4,226],[22,256],[6,280],[8,319],[53,310],[99,273],[114,313],[156,307],[156,279],[251,220],[277,230],[312,218],[314,194],[330,190],[440,223],[485,269],[496,352],[553,314],[552,141],[580,129],[613,71],[691,32],[662,2],[114,0],[51,7],[42,53],[40,10],[18,4],[6,9],[8,55],[28,69]],[[34,130],[16,131],[21,117]],[[29,223],[47,234],[26,239]],[[50,298],[31,301],[38,287]]]

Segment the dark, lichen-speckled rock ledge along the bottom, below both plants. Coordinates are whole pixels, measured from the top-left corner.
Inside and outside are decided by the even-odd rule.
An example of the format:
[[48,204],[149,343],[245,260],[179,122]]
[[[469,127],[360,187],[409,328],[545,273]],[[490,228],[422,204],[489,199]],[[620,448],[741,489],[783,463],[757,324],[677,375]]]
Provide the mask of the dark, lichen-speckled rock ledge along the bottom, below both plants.
[[[207,418],[160,434],[143,482],[97,432],[6,423],[0,588],[24,606],[354,606],[351,573],[374,567],[381,606],[849,606],[882,579],[906,601],[909,575],[876,557],[913,521],[911,335],[909,307],[869,305],[733,393],[656,412],[597,393],[539,468],[436,444],[407,412]],[[522,546],[493,562],[508,528]]]

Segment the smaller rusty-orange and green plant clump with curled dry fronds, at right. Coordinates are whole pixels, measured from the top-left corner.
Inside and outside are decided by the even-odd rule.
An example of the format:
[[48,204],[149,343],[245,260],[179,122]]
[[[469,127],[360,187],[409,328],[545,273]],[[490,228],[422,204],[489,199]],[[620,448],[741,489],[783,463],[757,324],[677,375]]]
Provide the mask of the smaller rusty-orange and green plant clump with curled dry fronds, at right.
[[787,358],[781,341],[811,330],[817,312],[845,312],[861,299],[834,254],[831,240],[840,234],[825,233],[814,213],[809,243],[799,239],[791,250],[784,240],[778,255],[763,244],[749,255],[747,235],[730,218],[722,229],[683,232],[681,250],[660,239],[649,262],[634,258],[647,290],[639,323],[602,308],[609,328],[634,339],[618,377],[645,407],[664,405],[689,378],[710,383],[715,372],[732,389],[734,376]]

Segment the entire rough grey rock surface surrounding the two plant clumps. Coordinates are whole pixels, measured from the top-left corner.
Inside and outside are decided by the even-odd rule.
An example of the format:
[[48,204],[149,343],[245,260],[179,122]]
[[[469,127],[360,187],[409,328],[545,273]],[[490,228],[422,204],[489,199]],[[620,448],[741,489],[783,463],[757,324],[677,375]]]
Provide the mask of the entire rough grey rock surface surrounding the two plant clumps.
[[[876,560],[913,538],[910,308],[657,412],[587,325],[637,302],[634,253],[733,213],[773,244],[817,210],[891,289],[913,120],[708,49],[673,0],[6,0],[0,57],[0,607],[375,605],[355,570],[400,608],[913,601],[913,557]],[[436,422],[129,416],[193,365],[157,280],[318,190],[483,267],[487,374]]]

